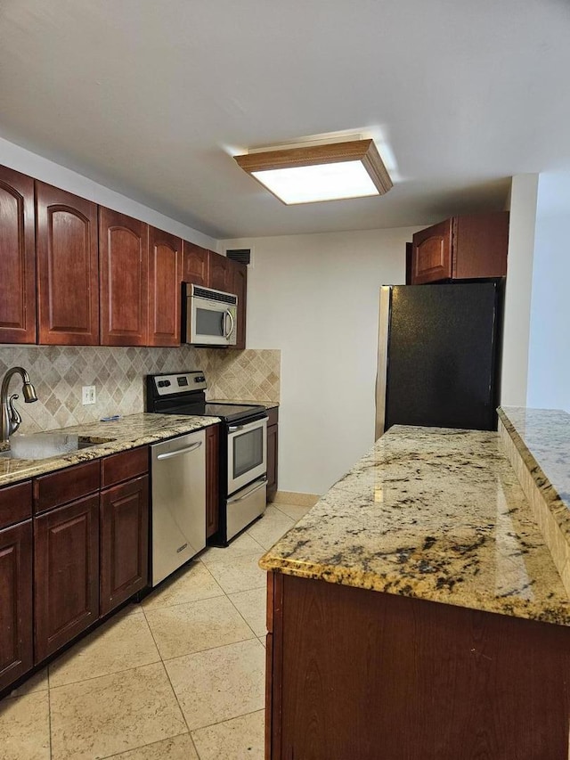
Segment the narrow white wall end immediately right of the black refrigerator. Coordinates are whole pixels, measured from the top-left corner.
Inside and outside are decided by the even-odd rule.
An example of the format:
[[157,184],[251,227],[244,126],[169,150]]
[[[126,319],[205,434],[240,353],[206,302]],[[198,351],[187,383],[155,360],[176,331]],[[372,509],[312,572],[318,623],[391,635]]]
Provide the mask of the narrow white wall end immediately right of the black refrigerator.
[[502,346],[501,405],[525,406],[538,175],[514,176]]

